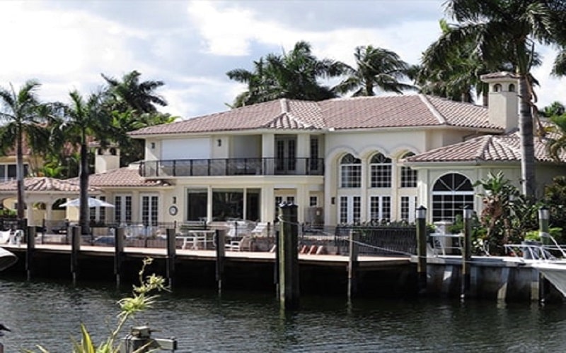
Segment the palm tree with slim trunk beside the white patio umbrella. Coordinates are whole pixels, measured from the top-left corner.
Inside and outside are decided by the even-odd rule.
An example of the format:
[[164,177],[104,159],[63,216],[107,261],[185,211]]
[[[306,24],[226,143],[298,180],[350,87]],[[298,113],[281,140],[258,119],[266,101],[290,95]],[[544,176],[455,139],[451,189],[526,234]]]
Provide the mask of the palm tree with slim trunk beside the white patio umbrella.
[[88,142],[96,139],[100,145],[106,145],[111,136],[112,119],[103,106],[103,94],[93,93],[86,100],[74,90],[69,93],[71,103],[65,107],[65,114],[58,121],[59,139],[64,138],[71,145],[80,145],[79,167],[79,225],[81,233],[89,233],[88,212]]

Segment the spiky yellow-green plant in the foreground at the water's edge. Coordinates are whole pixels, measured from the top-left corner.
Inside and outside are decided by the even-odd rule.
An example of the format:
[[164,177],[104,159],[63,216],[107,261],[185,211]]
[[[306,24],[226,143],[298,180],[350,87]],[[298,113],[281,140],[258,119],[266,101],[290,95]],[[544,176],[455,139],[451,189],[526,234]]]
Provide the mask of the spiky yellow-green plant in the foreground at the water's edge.
[[[126,297],[118,301],[120,313],[117,315],[117,325],[111,330],[110,335],[98,347],[93,342],[91,334],[85,325],[81,323],[81,340],[73,341],[73,353],[118,353],[120,351],[119,337],[125,327],[125,324],[132,321],[134,317],[143,311],[151,309],[158,298],[154,292],[168,290],[163,277],[158,275],[145,276],[146,267],[151,265],[152,258],[144,258],[141,270],[139,270],[139,287],[134,285],[132,289],[132,297]],[[37,346],[42,353],[49,353],[45,347]],[[148,347],[142,347],[136,352],[148,352]],[[33,353],[33,351],[26,351]]]

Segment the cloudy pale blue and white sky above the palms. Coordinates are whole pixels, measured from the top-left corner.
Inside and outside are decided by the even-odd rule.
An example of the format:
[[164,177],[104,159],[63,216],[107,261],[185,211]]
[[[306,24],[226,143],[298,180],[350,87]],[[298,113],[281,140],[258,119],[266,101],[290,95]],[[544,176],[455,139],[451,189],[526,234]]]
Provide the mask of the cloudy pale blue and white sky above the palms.
[[[62,0],[0,1],[0,85],[40,80],[42,100],[67,101],[103,85],[100,73],[163,80],[161,109],[184,119],[228,109],[244,90],[233,68],[281,54],[299,40],[314,54],[353,64],[371,44],[417,64],[439,36],[444,0]],[[550,77],[555,52],[541,49],[539,107],[566,103],[566,78]]]

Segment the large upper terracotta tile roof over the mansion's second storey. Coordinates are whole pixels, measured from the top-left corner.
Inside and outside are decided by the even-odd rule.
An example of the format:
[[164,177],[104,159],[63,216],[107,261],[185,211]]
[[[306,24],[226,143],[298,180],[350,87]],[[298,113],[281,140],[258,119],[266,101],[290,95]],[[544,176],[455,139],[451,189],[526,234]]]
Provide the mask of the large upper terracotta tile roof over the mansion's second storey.
[[487,108],[427,95],[350,97],[307,102],[273,100],[227,112],[149,126],[131,136],[251,129],[459,126],[502,130],[489,124]]

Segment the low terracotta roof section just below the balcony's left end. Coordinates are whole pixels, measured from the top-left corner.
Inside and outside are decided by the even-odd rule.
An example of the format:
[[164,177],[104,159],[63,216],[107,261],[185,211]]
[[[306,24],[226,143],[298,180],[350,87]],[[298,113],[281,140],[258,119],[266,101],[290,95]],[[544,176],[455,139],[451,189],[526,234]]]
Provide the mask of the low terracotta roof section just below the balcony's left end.
[[[74,178],[78,182],[78,178]],[[149,186],[166,186],[167,183],[161,180],[146,180],[139,176],[138,169],[119,168],[112,169],[108,172],[91,174],[88,184],[98,188],[103,187],[149,187]]]

